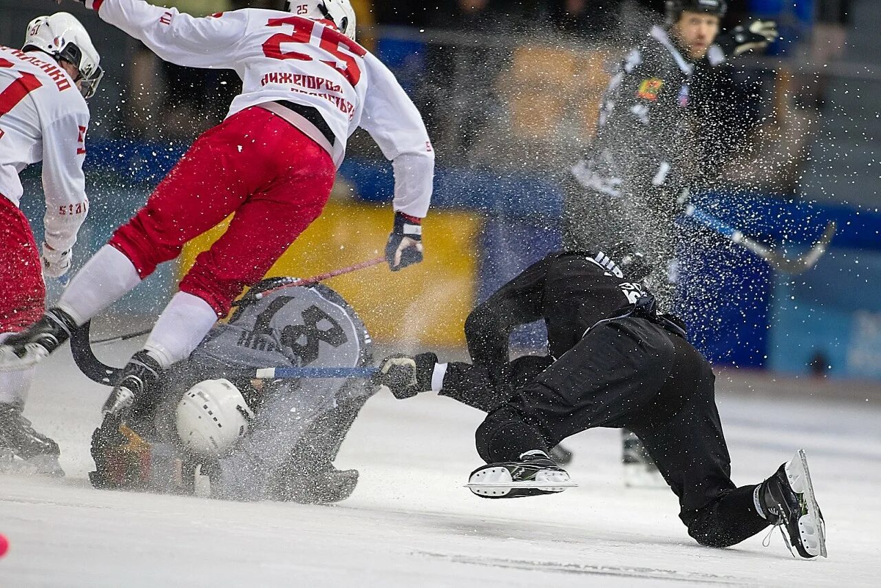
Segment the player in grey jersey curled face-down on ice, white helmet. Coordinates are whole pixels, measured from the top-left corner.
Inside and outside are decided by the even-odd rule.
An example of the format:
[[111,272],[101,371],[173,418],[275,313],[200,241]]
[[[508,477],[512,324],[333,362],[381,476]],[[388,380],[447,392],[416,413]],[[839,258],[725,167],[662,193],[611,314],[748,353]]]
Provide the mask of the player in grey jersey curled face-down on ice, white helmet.
[[352,494],[358,472],[332,461],[373,388],[250,376],[278,366],[362,367],[372,361],[370,338],[328,287],[256,297],[275,284],[253,288],[125,421],[105,418],[93,435],[96,487],[190,493],[198,470],[220,498],[337,502]]

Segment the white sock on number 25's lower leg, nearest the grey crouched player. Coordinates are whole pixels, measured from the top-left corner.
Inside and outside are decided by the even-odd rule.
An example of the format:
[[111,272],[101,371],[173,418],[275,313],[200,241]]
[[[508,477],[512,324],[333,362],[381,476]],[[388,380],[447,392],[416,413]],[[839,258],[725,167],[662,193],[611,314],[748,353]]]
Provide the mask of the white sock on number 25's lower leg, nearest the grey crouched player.
[[193,294],[178,292],[159,315],[144,350],[159,361],[160,366],[168,368],[189,357],[217,320],[217,313],[208,302]]

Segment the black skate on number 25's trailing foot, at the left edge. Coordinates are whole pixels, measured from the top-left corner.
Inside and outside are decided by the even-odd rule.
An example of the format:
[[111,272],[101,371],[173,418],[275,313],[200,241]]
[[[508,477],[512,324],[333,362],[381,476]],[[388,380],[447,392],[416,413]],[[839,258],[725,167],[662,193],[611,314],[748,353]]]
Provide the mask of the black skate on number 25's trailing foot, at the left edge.
[[0,370],[32,367],[70,339],[77,324],[62,309],[48,309],[46,314],[25,331],[4,339],[0,346]]

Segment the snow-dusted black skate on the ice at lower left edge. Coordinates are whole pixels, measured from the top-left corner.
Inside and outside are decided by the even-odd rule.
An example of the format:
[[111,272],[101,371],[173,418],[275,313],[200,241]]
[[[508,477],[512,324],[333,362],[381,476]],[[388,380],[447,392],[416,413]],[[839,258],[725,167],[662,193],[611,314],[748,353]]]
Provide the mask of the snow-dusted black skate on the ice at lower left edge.
[[0,471],[63,476],[58,443],[33,430],[19,402],[0,402]]

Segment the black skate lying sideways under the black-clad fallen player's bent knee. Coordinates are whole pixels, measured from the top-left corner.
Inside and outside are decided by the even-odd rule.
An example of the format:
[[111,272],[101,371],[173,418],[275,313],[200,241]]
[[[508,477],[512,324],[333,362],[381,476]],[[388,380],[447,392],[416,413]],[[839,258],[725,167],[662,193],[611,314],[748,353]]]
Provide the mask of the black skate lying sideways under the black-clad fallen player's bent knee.
[[544,451],[528,451],[520,461],[487,464],[471,472],[465,488],[481,498],[520,498],[578,486]]

